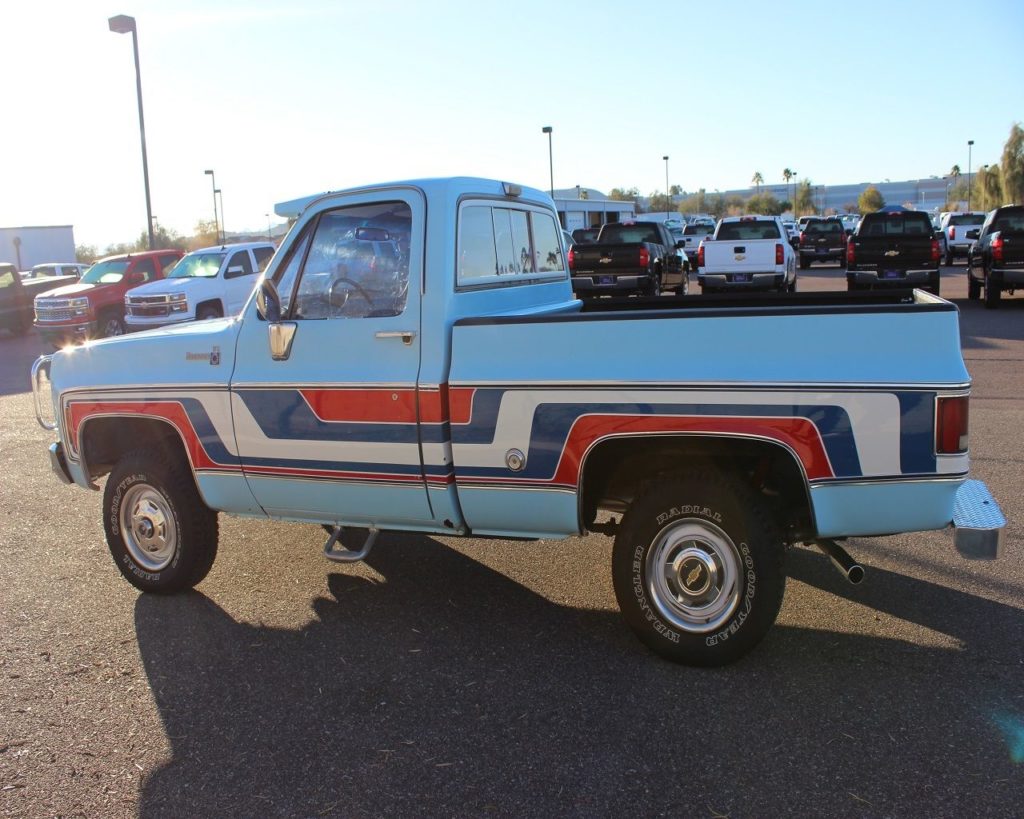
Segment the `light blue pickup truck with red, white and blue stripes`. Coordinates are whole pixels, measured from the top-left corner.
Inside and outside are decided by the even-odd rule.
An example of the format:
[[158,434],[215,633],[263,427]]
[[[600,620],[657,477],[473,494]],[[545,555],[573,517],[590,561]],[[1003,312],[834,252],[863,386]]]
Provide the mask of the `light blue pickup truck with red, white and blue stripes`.
[[106,541],[138,589],[200,583],[218,512],[323,524],[337,561],[387,530],[599,531],[638,637],[717,665],[771,627],[793,544],[853,580],[849,536],[952,525],[965,556],[999,553],[942,299],[585,305],[539,190],[433,179],[299,205],[240,316],[34,367],[53,468],[108,475]]

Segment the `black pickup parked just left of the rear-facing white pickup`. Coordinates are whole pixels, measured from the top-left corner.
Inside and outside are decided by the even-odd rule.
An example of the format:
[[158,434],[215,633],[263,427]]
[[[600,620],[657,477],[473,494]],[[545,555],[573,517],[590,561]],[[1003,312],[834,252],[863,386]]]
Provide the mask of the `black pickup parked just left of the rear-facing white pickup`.
[[609,222],[597,242],[569,251],[572,290],[578,296],[657,296],[674,289],[685,296],[689,275],[682,246],[660,222]]

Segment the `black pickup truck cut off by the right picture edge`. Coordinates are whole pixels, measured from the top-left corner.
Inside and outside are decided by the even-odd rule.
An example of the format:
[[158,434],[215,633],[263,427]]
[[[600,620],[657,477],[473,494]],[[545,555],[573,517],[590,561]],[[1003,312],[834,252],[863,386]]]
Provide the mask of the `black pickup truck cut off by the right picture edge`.
[[999,306],[1002,291],[1024,289],[1024,205],[990,211],[978,228],[967,257],[967,295],[977,299],[985,289],[985,306]]

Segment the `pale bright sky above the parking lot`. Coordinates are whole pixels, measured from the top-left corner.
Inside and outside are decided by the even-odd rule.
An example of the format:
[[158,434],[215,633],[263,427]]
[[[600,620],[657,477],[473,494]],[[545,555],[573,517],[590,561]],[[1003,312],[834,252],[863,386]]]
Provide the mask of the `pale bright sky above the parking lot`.
[[[278,202],[467,174],[648,193],[998,162],[1024,120],[1024,3],[0,0],[0,225],[102,250],[153,212],[266,227]],[[276,217],[272,217],[276,223]]]

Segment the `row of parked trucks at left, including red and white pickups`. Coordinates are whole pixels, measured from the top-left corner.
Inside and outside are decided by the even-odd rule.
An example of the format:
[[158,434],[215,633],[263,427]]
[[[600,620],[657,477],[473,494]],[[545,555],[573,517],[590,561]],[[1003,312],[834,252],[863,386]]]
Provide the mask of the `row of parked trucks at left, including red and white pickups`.
[[34,326],[45,342],[59,347],[233,315],[273,253],[269,242],[250,242],[187,255],[159,250],[110,256],[87,269],[39,265],[25,275],[0,266],[0,328],[23,333]]

